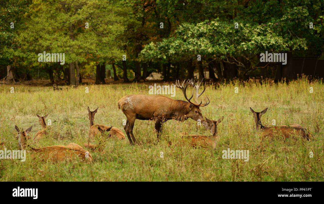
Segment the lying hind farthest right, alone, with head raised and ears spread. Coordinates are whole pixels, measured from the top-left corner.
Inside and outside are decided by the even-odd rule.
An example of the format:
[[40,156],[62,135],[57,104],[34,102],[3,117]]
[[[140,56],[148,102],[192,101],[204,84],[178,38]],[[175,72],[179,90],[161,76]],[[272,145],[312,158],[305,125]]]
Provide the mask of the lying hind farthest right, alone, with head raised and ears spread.
[[262,131],[262,138],[272,138],[274,135],[282,134],[285,138],[291,138],[293,135],[299,135],[303,138],[309,140],[311,138],[310,133],[306,130],[306,128],[301,127],[296,123],[291,123],[291,126],[273,126],[273,127],[264,127],[261,124],[261,116],[267,112],[268,108],[262,110],[261,112],[255,112],[252,108],[250,108],[251,112],[254,116],[255,121],[255,129],[258,131],[259,127]]

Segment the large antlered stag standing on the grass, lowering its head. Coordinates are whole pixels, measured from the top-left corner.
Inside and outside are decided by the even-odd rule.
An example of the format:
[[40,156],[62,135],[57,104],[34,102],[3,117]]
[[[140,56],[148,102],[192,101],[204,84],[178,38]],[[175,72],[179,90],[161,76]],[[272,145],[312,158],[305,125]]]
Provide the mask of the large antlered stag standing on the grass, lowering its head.
[[[198,97],[200,97],[206,89],[205,83],[203,91],[200,94],[198,93],[202,81],[200,83],[198,82],[198,85],[194,85],[192,80],[188,80],[186,85],[184,85],[185,80],[183,81],[182,85],[180,85],[179,80],[176,81],[176,87],[182,90],[183,95],[188,102],[175,100],[160,95],[128,95],[122,97],[118,101],[118,108],[122,110],[127,118],[124,129],[130,144],[133,145],[136,143],[133,135],[133,127],[136,119],[154,120],[158,139],[160,132],[162,131],[163,123],[168,120],[175,119],[183,122],[188,118],[192,118],[195,121],[198,119],[203,121],[203,115],[201,114],[199,107],[207,106],[210,99],[207,97],[208,101],[204,104],[202,104],[202,101],[198,102]],[[190,98],[188,98],[186,95],[188,85],[192,85],[194,87],[195,102],[190,101],[194,92],[192,92]]]

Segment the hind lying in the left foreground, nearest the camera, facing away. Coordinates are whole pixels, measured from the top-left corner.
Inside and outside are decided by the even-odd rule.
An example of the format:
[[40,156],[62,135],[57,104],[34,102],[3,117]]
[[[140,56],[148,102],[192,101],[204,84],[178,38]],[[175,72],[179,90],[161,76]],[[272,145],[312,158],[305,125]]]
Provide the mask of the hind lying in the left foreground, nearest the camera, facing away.
[[80,145],[75,143],[70,143],[67,146],[55,145],[42,148],[32,148],[27,144],[28,133],[30,132],[32,126],[25,131],[20,131],[16,126],[18,144],[22,150],[31,150],[34,153],[31,157],[35,157],[36,154],[41,155],[42,158],[46,160],[52,160],[54,162],[70,160],[76,156],[81,157],[83,160],[92,161],[92,156],[90,152],[83,149]]

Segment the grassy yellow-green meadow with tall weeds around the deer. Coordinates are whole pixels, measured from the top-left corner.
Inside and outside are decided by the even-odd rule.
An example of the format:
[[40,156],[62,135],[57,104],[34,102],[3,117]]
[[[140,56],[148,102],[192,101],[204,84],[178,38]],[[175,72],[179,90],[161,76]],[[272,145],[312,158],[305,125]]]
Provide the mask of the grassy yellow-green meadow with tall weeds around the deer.
[[[14,87],[14,93],[10,93],[10,87]],[[313,87],[313,93],[309,87]],[[126,117],[117,101],[125,95],[148,95],[148,90],[148,85],[140,83],[82,85],[58,91],[52,87],[1,85],[0,141],[4,146],[0,145],[0,149],[19,149],[15,125],[24,130],[33,126],[29,145],[34,148],[71,142],[83,146],[88,141],[88,106],[91,110],[99,107],[95,123],[124,132],[122,122]],[[323,82],[309,82],[305,77],[277,84],[264,80],[262,85],[232,81],[219,86],[210,84],[205,93],[211,102],[200,108],[203,116],[213,120],[224,116],[218,125],[221,137],[215,149],[192,148],[181,142],[182,131],[211,135],[192,119],[182,123],[167,121],[160,141],[156,139],[154,122],[136,120],[133,133],[138,145],[131,146],[126,134],[122,141],[105,139],[101,151],[90,151],[91,164],[78,160],[52,163],[31,159],[29,153],[25,162],[0,159],[0,181],[324,181]],[[185,100],[179,89],[173,98]],[[268,107],[261,118],[265,127],[272,126],[273,119],[276,125],[295,122],[306,127],[312,139],[284,140],[278,136],[261,141],[249,107],[257,112]],[[46,122],[50,119],[52,124],[47,134],[35,141],[35,133],[42,129],[36,114],[47,113]],[[98,144],[98,140],[90,142]],[[169,147],[168,141],[174,145]],[[249,150],[249,161],[223,159],[222,151],[227,148]],[[312,158],[309,152],[313,152]]]

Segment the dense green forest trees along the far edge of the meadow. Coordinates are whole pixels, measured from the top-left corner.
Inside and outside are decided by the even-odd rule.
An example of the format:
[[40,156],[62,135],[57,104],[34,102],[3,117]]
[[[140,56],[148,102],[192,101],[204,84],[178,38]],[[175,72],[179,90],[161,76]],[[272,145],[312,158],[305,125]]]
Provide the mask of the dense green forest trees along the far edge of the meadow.
[[[323,34],[323,0],[0,0],[0,78],[323,77]],[[65,64],[39,62],[44,51]],[[287,64],[260,62],[266,51]]]

